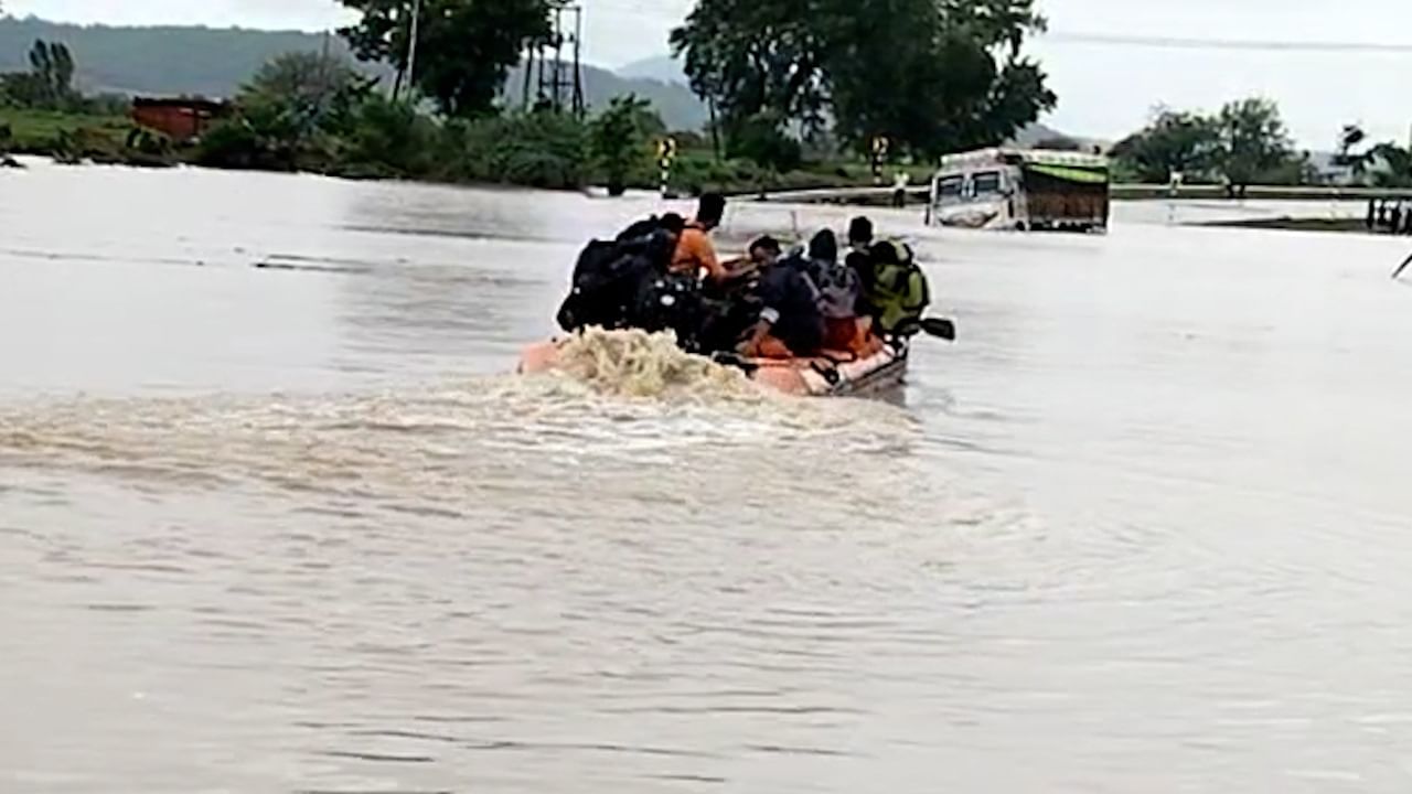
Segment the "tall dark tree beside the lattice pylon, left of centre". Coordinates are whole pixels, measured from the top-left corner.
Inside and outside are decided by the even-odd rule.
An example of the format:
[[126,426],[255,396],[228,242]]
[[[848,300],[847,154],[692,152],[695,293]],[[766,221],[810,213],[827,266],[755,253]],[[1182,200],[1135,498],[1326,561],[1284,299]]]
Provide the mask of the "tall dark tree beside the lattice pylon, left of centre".
[[[340,0],[359,11],[339,32],[359,58],[408,68],[412,0]],[[412,86],[448,116],[494,110],[496,96],[525,47],[548,41],[548,0],[422,0]]]

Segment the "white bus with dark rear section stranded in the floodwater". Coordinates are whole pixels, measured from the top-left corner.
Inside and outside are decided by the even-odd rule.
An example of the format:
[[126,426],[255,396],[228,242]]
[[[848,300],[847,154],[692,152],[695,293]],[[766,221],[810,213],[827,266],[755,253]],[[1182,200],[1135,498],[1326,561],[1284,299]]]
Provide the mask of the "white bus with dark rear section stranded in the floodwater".
[[942,158],[932,226],[1106,232],[1108,160],[1073,151],[987,148]]

